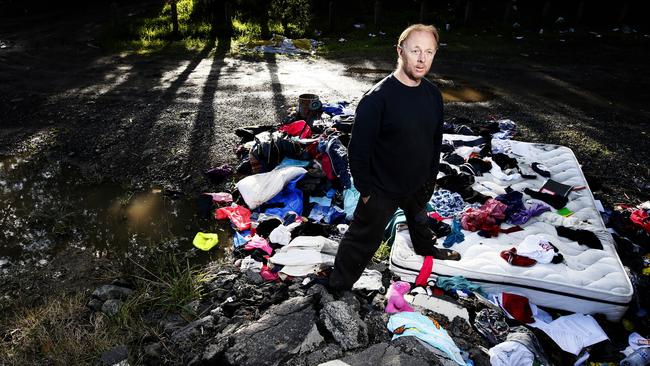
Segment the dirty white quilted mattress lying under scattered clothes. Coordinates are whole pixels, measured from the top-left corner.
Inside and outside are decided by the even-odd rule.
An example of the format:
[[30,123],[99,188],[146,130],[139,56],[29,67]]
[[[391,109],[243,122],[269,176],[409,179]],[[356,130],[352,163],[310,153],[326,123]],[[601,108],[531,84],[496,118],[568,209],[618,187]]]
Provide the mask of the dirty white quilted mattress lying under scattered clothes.
[[[445,135],[445,138],[460,140],[472,137]],[[587,185],[575,155],[566,147],[518,141],[500,143],[508,145],[508,155],[516,157],[520,165],[540,162],[550,170],[551,178],[560,183]],[[545,181],[546,178],[538,176],[536,179],[504,182],[487,173],[476,177],[473,188],[494,197],[504,193],[502,189],[508,185],[523,192],[524,188],[538,190]],[[527,199],[531,198],[524,194],[524,200]],[[451,248],[460,252],[462,259],[434,261],[431,277],[464,276],[487,292],[517,293],[537,305],[584,314],[601,313],[612,321],[620,320],[632,299],[633,287],[616,253],[612,236],[596,209],[591,191],[587,188],[571,192],[567,207],[575,214],[565,218],[552,209],[520,225],[523,231],[501,233],[494,238],[463,230],[465,240]],[[603,250],[590,249],[557,236],[553,226],[559,225],[593,231],[601,240]],[[502,250],[516,246],[531,234],[545,236],[562,253],[564,262],[517,267],[500,257]],[[443,241],[444,238],[439,238],[438,246]],[[403,280],[413,282],[422,262],[423,257],[413,252],[408,230],[398,232],[390,255],[391,270]]]

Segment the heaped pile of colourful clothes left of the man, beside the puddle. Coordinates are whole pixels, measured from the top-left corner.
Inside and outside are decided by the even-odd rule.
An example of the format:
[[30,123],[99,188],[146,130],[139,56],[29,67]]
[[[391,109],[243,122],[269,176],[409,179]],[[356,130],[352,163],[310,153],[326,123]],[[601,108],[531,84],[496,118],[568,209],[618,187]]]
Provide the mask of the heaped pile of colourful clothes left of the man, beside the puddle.
[[[347,102],[323,104],[302,116],[289,110],[281,126],[249,126],[241,138],[235,168],[224,165],[205,172],[219,183],[235,171],[246,175],[230,193],[204,193],[200,207],[217,220],[230,220],[233,255],[242,271],[265,280],[306,276],[331,267],[338,242],[359,200],[347,158],[354,122]],[[305,117],[308,121],[305,120]],[[209,250],[199,233],[195,245]],[[197,245],[199,244],[199,245]],[[372,286],[377,288],[376,282]]]

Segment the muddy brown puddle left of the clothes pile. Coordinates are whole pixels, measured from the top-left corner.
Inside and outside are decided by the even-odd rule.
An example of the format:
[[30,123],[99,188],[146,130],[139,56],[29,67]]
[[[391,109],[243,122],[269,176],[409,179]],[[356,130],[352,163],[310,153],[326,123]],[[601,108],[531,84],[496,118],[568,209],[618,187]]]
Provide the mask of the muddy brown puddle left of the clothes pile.
[[[65,162],[0,157],[0,269],[18,261],[47,261],[67,247],[98,257],[152,246],[189,251],[201,230],[219,233],[225,246],[230,240],[224,229],[199,217],[193,195],[88,182]],[[213,248],[198,257],[220,253]]]

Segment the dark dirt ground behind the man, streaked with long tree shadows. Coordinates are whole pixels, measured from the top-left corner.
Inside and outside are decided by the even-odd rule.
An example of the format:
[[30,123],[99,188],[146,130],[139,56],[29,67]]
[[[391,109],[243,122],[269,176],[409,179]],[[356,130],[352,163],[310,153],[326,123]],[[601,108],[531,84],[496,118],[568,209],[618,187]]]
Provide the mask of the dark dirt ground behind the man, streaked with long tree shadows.
[[[214,190],[201,171],[237,163],[236,128],[279,123],[302,93],[358,101],[395,61],[238,58],[222,39],[193,55],[105,54],[94,43],[98,29],[87,19],[0,24],[8,46],[0,49],[0,156],[63,161],[93,182],[190,195]],[[467,38],[451,35],[430,75],[445,92],[448,116],[508,118],[518,140],[570,147],[607,205],[650,199],[648,38],[514,43],[487,33],[452,44],[454,37]],[[487,46],[474,51],[482,40]],[[68,277],[101,282],[99,268],[78,266]],[[4,280],[2,292],[38,296],[55,283],[75,287],[56,278],[30,277],[33,287],[22,289]]]

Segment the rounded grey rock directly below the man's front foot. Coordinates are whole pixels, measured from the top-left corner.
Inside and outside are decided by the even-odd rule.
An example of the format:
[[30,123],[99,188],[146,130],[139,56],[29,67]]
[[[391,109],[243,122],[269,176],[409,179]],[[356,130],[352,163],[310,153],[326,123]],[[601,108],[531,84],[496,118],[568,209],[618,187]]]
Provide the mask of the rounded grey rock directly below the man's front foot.
[[366,325],[359,314],[345,302],[339,300],[325,304],[320,319],[344,351],[368,344]]

